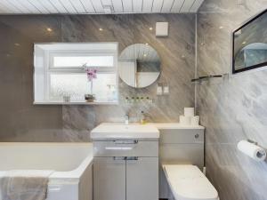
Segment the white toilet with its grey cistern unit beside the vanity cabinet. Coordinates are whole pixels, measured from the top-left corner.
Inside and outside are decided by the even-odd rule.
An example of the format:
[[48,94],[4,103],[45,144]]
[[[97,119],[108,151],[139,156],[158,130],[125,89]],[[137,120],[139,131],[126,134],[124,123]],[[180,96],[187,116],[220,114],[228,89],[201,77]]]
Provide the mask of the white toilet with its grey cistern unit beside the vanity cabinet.
[[168,200],[219,200],[206,178],[203,126],[161,128],[159,197]]

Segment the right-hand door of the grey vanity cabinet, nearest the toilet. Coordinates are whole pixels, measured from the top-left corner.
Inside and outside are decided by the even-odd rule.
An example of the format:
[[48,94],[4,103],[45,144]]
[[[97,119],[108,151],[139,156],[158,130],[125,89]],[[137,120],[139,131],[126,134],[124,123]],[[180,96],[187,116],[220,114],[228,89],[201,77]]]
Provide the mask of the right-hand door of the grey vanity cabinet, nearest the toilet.
[[126,199],[158,200],[158,157],[127,158]]

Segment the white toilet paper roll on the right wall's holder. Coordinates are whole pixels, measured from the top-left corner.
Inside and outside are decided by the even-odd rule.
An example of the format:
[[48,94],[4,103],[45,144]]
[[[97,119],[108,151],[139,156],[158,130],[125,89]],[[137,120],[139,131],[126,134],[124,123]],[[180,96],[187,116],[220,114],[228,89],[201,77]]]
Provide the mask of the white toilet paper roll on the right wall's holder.
[[239,151],[255,159],[255,161],[263,161],[266,158],[266,151],[263,148],[247,140],[239,141],[238,148]]

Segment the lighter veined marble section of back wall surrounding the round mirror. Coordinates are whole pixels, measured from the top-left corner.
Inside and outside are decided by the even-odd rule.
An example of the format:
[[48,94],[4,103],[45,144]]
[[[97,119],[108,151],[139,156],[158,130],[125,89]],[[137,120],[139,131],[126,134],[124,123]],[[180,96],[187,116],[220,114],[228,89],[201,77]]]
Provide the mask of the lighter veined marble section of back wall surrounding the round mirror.
[[[155,29],[157,21],[169,22],[169,36],[156,37],[155,31],[149,29]],[[83,112],[82,115],[75,116],[77,121],[93,125],[123,122],[125,113],[129,112],[130,121],[137,122],[143,110],[150,122],[177,122],[183,107],[193,106],[194,103],[194,85],[190,84],[195,65],[194,24],[195,16],[192,14],[65,16],[62,19],[62,41],[118,42],[119,52],[130,44],[150,44],[158,51],[162,60],[162,73],[158,82],[167,82],[170,85],[168,96],[157,97],[156,83],[145,89],[134,89],[119,80],[118,106],[95,106],[86,109],[69,107],[73,111],[79,109],[77,113]],[[99,28],[103,28],[103,31],[99,31]],[[148,96],[154,103],[129,105],[125,103],[126,96]],[[69,115],[72,115],[69,108],[63,108],[63,124],[64,127],[68,126],[65,130],[77,132],[79,135],[79,130],[71,118],[69,121]],[[88,112],[93,112],[94,116],[87,116]],[[85,127],[85,130],[89,132],[92,127]]]

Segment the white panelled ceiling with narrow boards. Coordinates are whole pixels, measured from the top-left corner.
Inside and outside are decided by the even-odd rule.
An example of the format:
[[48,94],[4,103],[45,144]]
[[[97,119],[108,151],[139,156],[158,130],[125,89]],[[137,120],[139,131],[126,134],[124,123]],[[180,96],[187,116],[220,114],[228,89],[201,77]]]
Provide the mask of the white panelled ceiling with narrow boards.
[[0,14],[198,12],[204,0],[0,0]]

